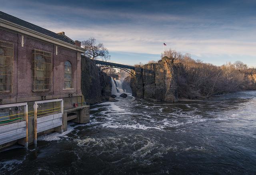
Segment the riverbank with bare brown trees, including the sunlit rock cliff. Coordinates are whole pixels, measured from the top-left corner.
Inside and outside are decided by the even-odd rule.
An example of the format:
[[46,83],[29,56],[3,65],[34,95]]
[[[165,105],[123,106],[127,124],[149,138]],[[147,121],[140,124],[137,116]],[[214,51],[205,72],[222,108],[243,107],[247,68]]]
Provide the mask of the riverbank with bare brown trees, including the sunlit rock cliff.
[[241,61],[215,66],[174,50],[164,55],[158,62],[136,66],[136,77],[130,81],[134,96],[176,102],[256,90],[256,69]]

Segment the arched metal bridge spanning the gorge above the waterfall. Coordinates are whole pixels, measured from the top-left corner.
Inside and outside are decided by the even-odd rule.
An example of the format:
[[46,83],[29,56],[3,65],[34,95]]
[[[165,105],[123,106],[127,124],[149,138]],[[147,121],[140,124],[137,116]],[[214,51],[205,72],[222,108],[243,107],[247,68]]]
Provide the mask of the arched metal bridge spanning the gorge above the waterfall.
[[117,69],[121,69],[123,71],[126,71],[127,73],[129,73],[131,76],[135,76],[135,67],[131,66],[131,65],[125,65],[125,64],[121,64],[121,63],[114,63],[114,62],[110,62],[110,61],[102,61],[102,60],[98,60],[98,59],[94,59],[96,66],[98,66],[100,68],[100,71],[104,71],[106,69],[110,69],[110,68],[117,68]]

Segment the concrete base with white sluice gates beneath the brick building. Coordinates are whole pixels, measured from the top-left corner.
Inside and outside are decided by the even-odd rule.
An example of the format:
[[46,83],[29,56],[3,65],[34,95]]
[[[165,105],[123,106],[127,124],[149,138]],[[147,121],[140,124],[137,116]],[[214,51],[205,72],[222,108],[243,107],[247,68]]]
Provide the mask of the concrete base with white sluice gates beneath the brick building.
[[[80,96],[79,96],[80,97]],[[88,123],[90,106],[76,97],[0,105],[0,149],[37,145],[40,135],[64,132],[68,121]]]

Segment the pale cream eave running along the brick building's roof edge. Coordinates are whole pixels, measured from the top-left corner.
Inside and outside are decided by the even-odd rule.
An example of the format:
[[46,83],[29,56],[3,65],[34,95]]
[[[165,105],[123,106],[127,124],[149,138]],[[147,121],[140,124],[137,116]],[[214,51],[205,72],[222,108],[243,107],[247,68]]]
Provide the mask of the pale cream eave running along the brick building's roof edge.
[[35,37],[35,38],[38,38],[38,39],[42,39],[44,41],[48,41],[50,43],[54,43],[56,45],[60,45],[60,46],[63,46],[63,47],[66,47],[66,48],[69,48],[69,49],[72,49],[72,50],[75,50],[75,51],[79,51],[79,52],[82,52],[82,53],[85,52],[85,49],[82,48],[82,47],[78,47],[76,45],[66,43],[66,42],[61,41],[59,39],[56,39],[54,37],[50,37],[48,35],[45,35],[45,34],[42,34],[42,33],[38,32],[38,31],[34,31],[32,29],[25,28],[23,26],[20,26],[18,24],[9,22],[9,21],[1,19],[1,18],[0,18],[0,27],[11,29],[11,30],[14,30],[14,31],[18,31],[20,33],[24,33],[26,35],[29,35],[29,36],[32,36],[32,37]]

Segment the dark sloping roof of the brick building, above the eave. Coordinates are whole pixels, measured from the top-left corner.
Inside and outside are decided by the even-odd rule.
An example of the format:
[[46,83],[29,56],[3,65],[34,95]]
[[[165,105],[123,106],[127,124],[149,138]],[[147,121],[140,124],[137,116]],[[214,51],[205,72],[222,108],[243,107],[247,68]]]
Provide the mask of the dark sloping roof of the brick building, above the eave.
[[66,43],[70,43],[70,44],[73,44],[73,45],[75,44],[75,41],[73,41],[72,39],[70,39],[66,35],[54,33],[53,31],[41,28],[41,27],[36,26],[36,25],[34,25],[30,22],[26,22],[24,20],[21,20],[20,18],[16,18],[15,16],[6,14],[6,13],[1,12],[1,11],[0,11],[0,18],[2,18],[3,20],[6,20],[6,21],[12,22],[14,24],[18,24],[18,25],[23,26],[25,28],[37,31],[37,32],[42,33],[44,35],[48,35],[48,36],[53,37],[55,39],[59,39],[59,40],[64,41]]

